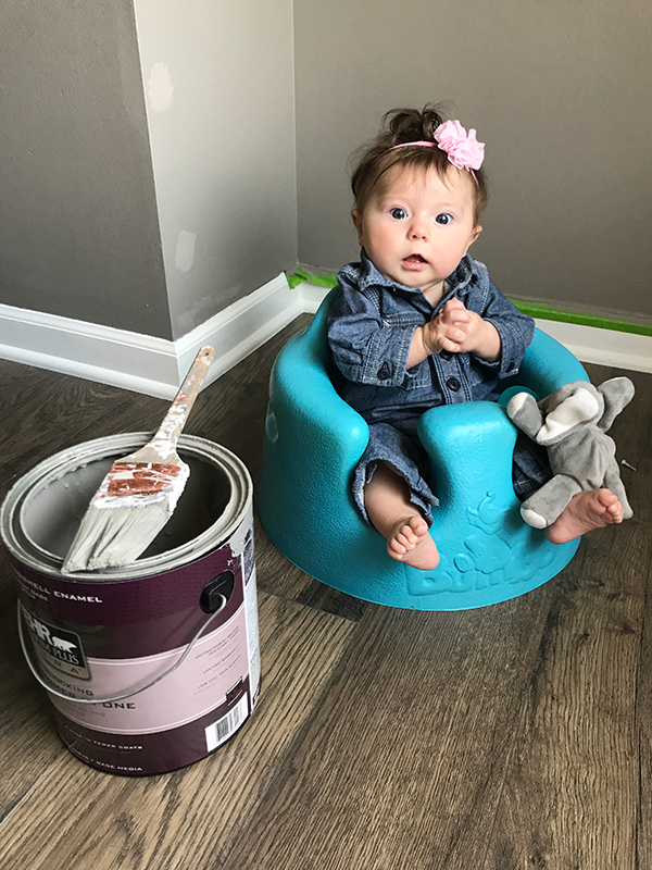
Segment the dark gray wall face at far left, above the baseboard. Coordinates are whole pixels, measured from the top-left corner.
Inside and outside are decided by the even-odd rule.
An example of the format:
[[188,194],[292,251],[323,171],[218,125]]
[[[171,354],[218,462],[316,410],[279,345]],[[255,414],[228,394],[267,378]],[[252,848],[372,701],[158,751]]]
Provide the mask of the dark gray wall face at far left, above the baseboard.
[[0,3],[0,301],[172,335],[129,0]]

